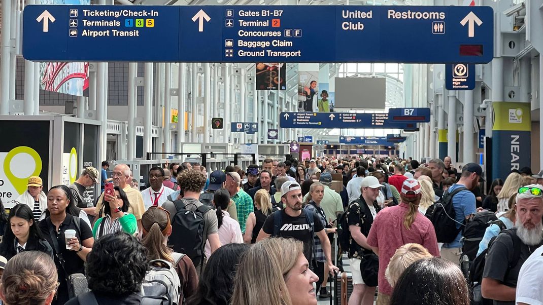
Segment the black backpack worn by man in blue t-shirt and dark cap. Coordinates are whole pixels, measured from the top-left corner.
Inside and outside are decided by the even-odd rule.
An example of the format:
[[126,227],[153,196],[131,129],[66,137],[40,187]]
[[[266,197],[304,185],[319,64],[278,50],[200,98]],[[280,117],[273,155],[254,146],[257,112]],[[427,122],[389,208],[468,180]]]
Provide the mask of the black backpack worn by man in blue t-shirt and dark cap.
[[454,191],[449,191],[443,194],[443,197],[428,207],[426,211],[426,217],[430,219],[435,229],[435,237],[438,239],[438,243],[450,243],[454,241],[454,238],[458,236],[460,228],[456,228],[457,224],[464,225],[456,221],[456,212],[454,212],[454,206],[452,204],[452,197],[458,192],[468,191],[463,186],[457,187]]

